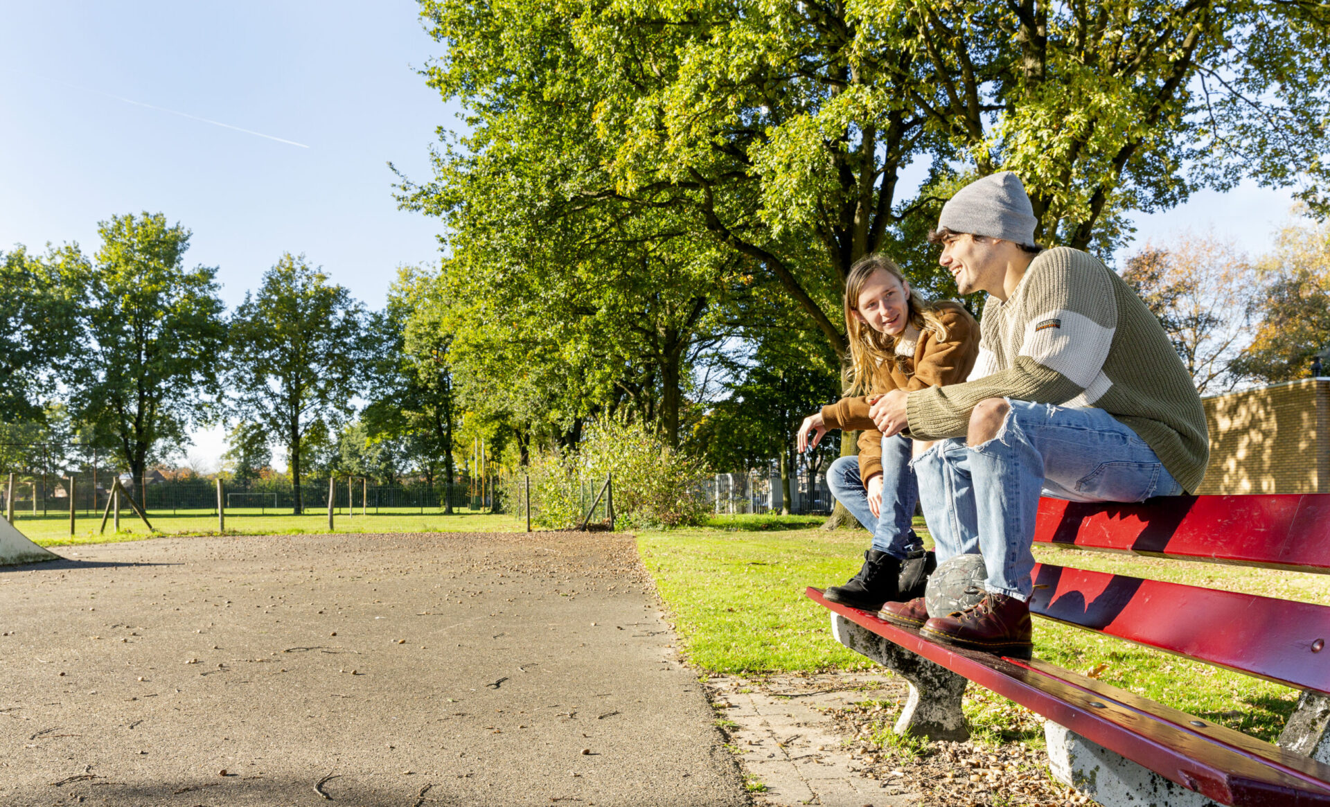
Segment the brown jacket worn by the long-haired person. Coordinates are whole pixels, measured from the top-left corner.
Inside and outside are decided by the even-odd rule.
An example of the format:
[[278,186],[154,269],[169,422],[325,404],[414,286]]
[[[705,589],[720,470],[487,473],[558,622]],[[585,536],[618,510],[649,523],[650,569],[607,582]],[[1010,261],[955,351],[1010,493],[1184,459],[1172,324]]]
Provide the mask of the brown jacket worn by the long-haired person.
[[[900,362],[888,372],[891,386],[876,390],[875,396],[892,390],[914,392],[928,387],[956,384],[970,376],[979,355],[979,323],[960,304],[951,300],[939,303],[947,339],[938,339],[928,331],[919,334],[912,359]],[[868,480],[882,473],[882,432],[868,419],[868,398],[842,398],[822,407],[822,420],[827,428],[863,429],[859,433],[859,477]]]

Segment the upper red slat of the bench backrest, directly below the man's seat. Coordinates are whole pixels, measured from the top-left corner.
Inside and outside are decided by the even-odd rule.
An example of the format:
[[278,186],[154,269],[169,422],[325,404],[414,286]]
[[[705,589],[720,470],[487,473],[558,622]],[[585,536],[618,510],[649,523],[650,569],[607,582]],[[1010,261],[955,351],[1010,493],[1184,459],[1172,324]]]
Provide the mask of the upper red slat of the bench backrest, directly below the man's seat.
[[1330,493],[1173,496],[1136,504],[1045,497],[1035,541],[1330,573]]

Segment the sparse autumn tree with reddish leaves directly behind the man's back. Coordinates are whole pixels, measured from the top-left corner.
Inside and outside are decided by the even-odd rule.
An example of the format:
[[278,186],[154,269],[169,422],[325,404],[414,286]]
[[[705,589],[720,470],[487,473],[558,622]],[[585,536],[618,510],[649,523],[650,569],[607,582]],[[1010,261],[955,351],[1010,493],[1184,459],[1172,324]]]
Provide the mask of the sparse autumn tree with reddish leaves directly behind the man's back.
[[1257,274],[1232,241],[1186,233],[1168,246],[1146,243],[1123,279],[1160,319],[1198,392],[1237,383],[1230,364],[1250,340]]

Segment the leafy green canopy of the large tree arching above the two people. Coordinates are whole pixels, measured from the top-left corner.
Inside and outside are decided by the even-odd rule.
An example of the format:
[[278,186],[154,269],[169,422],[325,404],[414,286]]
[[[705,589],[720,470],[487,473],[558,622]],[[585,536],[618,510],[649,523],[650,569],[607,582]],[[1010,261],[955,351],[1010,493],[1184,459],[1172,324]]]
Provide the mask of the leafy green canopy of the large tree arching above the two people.
[[[919,222],[975,174],[1021,174],[1044,242],[1104,247],[1125,210],[1244,175],[1301,183],[1321,205],[1330,172],[1330,11],[1317,4],[422,9],[448,48],[428,78],[463,104],[471,134],[436,153],[434,182],[406,187],[412,203],[466,215],[481,203],[466,179],[501,169],[523,190],[509,205],[678,210],[749,257],[838,355],[838,298],[863,254],[920,258],[915,285],[951,290],[912,247]],[[932,173],[902,194],[914,160]]]

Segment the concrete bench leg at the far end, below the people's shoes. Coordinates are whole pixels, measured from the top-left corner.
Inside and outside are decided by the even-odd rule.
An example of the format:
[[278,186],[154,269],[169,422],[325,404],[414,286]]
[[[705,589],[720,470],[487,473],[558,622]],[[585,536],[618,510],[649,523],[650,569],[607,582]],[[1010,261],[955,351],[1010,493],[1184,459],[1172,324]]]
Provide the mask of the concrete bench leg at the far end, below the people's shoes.
[[910,685],[910,698],[896,721],[896,734],[958,742],[970,739],[970,723],[960,711],[960,695],[968,683],[964,677],[855,625],[838,613],[831,614],[831,634],[846,647],[867,655]]

